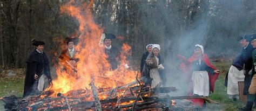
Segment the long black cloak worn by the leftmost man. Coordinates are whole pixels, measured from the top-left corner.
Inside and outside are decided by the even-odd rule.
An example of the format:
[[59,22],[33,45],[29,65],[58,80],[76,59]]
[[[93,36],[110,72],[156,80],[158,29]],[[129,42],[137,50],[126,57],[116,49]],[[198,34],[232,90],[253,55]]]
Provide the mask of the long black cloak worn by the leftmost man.
[[45,60],[45,64],[42,65],[40,63],[39,52],[36,50],[30,53],[28,60],[26,60],[26,77],[25,77],[25,85],[24,85],[24,93],[23,97],[32,94],[33,89],[32,86],[35,82],[35,74],[38,75],[38,79],[41,77],[42,72],[51,80],[50,68],[49,68],[49,60],[45,53],[43,53],[43,57]]

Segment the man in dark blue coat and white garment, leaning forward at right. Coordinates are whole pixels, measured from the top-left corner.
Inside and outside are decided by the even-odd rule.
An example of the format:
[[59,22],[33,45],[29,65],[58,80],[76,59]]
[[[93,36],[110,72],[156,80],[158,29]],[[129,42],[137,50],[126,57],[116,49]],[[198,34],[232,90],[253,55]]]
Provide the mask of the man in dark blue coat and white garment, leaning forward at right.
[[241,52],[235,57],[230,70],[228,71],[227,94],[230,99],[236,101],[239,99],[238,81],[245,82],[244,95],[247,95],[250,86],[250,77],[248,72],[252,68],[252,51],[253,47],[248,41],[250,35],[242,35],[237,40],[242,46]]

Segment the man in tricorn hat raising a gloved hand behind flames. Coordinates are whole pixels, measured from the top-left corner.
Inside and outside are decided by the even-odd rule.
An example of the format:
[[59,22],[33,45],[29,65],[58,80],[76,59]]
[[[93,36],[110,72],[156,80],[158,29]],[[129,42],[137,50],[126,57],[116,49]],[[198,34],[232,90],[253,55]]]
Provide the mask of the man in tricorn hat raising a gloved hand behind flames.
[[120,52],[118,48],[112,46],[112,39],[116,38],[112,33],[103,33],[100,38],[99,45],[104,43],[105,53],[107,54],[107,60],[111,64],[112,70],[116,70],[118,66],[118,61],[120,60]]

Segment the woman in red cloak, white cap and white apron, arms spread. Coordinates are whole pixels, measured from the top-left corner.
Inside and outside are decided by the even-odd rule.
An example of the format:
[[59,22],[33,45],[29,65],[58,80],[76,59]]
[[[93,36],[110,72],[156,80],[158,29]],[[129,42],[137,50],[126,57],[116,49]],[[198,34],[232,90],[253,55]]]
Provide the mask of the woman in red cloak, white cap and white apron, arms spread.
[[[181,70],[186,75],[188,84],[188,96],[208,96],[210,91],[214,92],[214,83],[219,76],[217,70],[211,63],[204,47],[196,45],[192,57],[186,60],[185,57],[177,55],[182,61]],[[194,105],[203,106],[203,99],[191,99]]]

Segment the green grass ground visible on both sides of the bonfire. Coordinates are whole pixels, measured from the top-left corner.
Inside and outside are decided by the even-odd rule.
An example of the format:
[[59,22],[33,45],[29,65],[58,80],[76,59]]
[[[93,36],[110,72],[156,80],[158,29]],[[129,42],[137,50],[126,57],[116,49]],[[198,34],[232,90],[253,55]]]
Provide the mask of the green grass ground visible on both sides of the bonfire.
[[[226,72],[228,68],[230,68],[231,66],[231,61],[216,62],[213,64],[223,72],[220,74],[217,82],[215,82],[215,92],[213,94],[210,94],[209,98],[219,102],[220,105],[207,105],[208,108],[210,108],[207,110],[237,110],[238,108],[244,106],[244,102],[233,101],[231,99],[228,99],[228,95],[226,93],[224,80],[225,80]],[[19,72],[21,74],[17,74],[18,76],[16,78],[6,78],[4,76],[0,78],[0,89],[1,89],[0,97],[9,96],[9,95],[16,95],[16,96],[23,95],[25,75],[24,75],[24,70]],[[0,105],[0,108],[2,108],[1,105]]]

